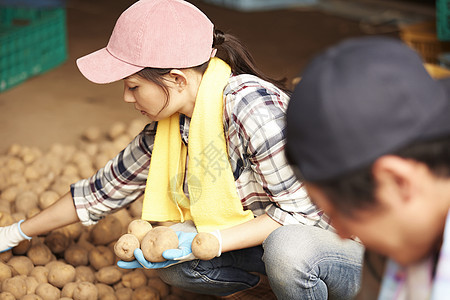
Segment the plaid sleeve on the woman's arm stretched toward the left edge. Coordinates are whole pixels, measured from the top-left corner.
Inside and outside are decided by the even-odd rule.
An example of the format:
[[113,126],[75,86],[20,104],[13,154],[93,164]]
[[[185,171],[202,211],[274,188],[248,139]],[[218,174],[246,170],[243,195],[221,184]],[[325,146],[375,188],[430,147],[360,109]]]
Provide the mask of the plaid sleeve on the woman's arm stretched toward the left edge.
[[144,193],[155,134],[156,123],[148,124],[92,177],[71,185],[75,209],[83,225],[95,224]]

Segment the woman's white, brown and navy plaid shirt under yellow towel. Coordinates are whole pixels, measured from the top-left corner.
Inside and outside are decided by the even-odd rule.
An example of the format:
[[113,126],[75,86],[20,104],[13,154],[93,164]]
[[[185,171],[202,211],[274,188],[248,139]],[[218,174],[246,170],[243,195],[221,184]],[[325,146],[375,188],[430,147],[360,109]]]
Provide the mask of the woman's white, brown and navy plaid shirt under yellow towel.
[[[331,229],[284,156],[288,100],[286,94],[258,77],[230,77],[224,90],[223,125],[237,192],[244,209],[252,210],[255,216],[266,213],[283,225],[302,223]],[[180,118],[185,144],[189,123],[188,117]],[[83,224],[94,224],[144,193],[156,127],[157,122],[148,124],[104,168],[72,184],[72,197]]]

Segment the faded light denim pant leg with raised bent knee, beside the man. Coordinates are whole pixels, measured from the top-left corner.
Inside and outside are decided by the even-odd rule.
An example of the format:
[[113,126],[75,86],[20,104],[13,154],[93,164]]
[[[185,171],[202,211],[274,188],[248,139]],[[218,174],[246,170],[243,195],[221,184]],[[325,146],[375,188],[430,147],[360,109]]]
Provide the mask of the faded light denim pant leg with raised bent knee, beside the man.
[[263,243],[267,276],[278,299],[345,299],[357,294],[364,248],[335,233],[286,225]]

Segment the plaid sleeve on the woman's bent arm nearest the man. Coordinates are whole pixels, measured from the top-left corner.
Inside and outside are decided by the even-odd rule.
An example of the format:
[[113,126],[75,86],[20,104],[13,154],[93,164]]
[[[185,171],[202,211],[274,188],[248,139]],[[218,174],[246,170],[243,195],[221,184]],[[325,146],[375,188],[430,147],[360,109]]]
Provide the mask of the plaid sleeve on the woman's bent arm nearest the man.
[[248,102],[238,119],[245,120],[241,133],[248,141],[246,155],[254,179],[270,199],[266,214],[283,225],[300,222],[328,228],[285,157],[287,96],[262,87],[255,93],[260,100]]

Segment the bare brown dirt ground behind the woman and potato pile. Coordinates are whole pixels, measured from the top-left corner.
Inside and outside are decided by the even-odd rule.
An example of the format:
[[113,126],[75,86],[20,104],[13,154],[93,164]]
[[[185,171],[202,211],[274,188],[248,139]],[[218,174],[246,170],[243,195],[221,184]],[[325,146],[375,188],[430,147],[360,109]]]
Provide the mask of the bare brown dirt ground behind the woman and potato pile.
[[[67,4],[67,61],[0,93],[0,153],[17,143],[43,150],[72,143],[89,126],[142,118],[122,101],[122,83],[97,85],[75,60],[104,47],[120,13],[132,0],[70,0]],[[365,35],[358,22],[312,8],[240,12],[192,1],[216,28],[237,35],[267,74],[291,80],[312,55],[337,41]]]

